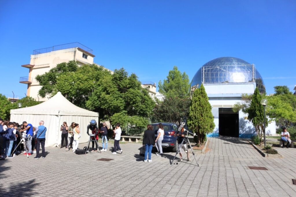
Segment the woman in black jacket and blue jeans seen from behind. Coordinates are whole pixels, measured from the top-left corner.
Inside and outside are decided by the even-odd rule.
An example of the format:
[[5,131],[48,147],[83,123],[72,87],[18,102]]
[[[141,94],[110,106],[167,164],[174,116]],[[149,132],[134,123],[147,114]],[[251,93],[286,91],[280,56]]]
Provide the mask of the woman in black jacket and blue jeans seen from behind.
[[147,154],[148,154],[148,162],[152,162],[151,151],[152,151],[152,147],[155,144],[155,134],[152,129],[153,129],[152,125],[147,125],[147,130],[144,131],[144,138],[143,138],[143,146],[145,146],[144,162],[147,162]]

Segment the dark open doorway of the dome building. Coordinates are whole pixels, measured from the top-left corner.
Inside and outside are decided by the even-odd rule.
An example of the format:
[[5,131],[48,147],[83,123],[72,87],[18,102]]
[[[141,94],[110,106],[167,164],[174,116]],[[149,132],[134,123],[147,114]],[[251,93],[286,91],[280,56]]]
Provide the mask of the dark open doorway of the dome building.
[[239,137],[239,114],[232,108],[219,108],[219,136]]

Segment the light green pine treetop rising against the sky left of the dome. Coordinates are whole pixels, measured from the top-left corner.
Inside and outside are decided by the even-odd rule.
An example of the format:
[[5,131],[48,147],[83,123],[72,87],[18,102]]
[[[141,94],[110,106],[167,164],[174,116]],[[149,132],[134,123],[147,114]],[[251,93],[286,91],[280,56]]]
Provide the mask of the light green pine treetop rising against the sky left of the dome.
[[179,97],[186,98],[189,97],[189,78],[184,72],[183,74],[178,70],[177,66],[170,70],[167,79],[158,82],[159,92],[161,92],[166,98]]

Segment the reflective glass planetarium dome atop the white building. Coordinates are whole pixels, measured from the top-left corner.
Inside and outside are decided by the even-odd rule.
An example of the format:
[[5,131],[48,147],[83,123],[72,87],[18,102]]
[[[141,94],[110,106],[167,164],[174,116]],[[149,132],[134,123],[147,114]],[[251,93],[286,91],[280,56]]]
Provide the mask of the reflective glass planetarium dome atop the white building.
[[200,87],[202,83],[248,82],[256,82],[259,92],[265,92],[263,79],[254,64],[239,58],[220,57],[205,63],[194,75],[190,86]]

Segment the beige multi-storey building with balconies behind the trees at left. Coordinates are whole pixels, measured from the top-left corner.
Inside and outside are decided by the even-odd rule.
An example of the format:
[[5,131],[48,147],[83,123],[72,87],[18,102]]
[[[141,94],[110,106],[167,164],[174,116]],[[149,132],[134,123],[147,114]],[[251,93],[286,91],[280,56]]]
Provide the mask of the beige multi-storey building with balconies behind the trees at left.
[[[77,46],[78,44],[70,43],[67,46],[69,47]],[[60,64],[62,62],[68,62],[71,60],[77,61],[79,65],[94,64],[95,56],[92,54],[92,51],[85,51],[80,47],[67,48],[67,46],[66,47],[63,45],[55,46],[56,48],[60,47],[65,49],[54,50],[54,51],[50,51],[51,48],[35,50],[34,53],[38,53],[38,54],[33,54],[30,56],[30,64],[22,65],[23,67],[26,67],[29,69],[28,76],[20,77],[20,83],[28,84],[27,96],[33,97],[37,101],[38,100],[46,101],[49,99],[49,97],[41,98],[38,95],[38,91],[40,90],[41,86],[36,81],[35,77],[37,75],[41,75],[41,74],[44,74],[45,72],[48,72],[50,69],[56,67],[57,64]],[[88,48],[86,48],[86,50],[87,49]],[[44,52],[44,50],[48,50],[49,52],[46,52],[46,51]]]

